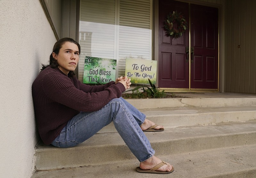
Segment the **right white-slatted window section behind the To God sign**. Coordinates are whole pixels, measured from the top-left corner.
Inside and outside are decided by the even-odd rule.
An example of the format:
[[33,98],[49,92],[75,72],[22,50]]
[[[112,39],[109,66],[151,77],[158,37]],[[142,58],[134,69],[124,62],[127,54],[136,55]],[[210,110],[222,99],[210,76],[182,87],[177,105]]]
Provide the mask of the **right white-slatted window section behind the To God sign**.
[[125,59],[152,59],[151,1],[120,0],[118,76],[125,75]]

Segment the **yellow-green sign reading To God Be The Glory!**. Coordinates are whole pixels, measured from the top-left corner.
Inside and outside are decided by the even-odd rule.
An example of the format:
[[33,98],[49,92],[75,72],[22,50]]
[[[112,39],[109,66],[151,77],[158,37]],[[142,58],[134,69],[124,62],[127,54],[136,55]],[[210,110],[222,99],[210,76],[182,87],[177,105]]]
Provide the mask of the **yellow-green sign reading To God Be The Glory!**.
[[132,84],[156,84],[157,61],[127,58],[125,65],[125,75],[131,78]]

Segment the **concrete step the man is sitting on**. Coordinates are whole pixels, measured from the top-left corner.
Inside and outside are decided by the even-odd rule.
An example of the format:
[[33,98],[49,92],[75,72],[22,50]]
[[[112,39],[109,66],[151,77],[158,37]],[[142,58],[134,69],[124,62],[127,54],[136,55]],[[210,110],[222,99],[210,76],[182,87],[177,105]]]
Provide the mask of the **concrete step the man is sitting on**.
[[[209,126],[169,128],[146,132],[156,155],[168,156],[193,151],[256,144],[256,122],[222,123]],[[135,159],[118,133],[98,133],[72,148],[38,144],[36,170],[97,166]]]

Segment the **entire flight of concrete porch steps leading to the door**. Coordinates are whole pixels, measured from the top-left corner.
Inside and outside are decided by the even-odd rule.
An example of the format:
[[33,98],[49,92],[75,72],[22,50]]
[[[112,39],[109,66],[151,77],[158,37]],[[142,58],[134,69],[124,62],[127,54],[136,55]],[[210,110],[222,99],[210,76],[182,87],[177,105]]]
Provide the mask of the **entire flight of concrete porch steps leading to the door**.
[[[189,98],[127,100],[165,126],[146,136],[156,156],[175,167],[166,176],[256,177],[256,95],[182,95]],[[139,162],[113,124],[76,147],[39,143],[35,158],[33,178],[164,176],[134,170]]]

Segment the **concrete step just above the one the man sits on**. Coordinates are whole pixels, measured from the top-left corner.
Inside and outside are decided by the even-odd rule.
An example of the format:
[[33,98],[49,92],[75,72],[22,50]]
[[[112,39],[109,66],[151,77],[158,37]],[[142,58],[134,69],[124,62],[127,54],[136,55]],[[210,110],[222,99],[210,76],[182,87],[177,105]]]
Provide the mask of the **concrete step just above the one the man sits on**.
[[[164,125],[166,129],[196,126],[214,125],[228,122],[246,122],[256,120],[256,107],[222,107],[222,108],[156,108],[139,109],[147,119]],[[99,133],[116,132],[111,123],[101,129]]]

